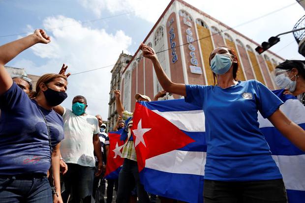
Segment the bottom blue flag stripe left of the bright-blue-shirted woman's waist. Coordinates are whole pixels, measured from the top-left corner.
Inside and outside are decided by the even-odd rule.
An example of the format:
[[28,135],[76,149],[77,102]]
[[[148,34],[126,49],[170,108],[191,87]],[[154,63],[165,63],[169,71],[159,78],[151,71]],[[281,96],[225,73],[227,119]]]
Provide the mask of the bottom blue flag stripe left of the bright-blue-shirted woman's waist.
[[203,203],[203,175],[173,174],[145,168],[140,178],[145,190],[152,194],[187,203]]

